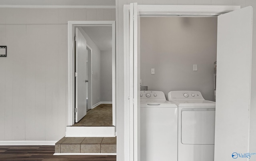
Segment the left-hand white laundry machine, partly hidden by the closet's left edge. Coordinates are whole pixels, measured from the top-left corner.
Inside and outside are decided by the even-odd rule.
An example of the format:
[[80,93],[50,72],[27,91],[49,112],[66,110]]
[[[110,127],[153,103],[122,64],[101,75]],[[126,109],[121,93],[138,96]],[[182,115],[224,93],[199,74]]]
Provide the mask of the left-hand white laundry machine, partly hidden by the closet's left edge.
[[177,161],[178,106],[162,91],[140,91],[140,160]]

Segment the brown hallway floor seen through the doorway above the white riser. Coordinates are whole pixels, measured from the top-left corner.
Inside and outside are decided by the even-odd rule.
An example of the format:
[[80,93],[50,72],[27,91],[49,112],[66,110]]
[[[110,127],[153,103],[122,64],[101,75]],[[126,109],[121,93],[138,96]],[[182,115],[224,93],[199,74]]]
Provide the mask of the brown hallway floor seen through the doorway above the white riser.
[[112,126],[112,104],[100,104],[73,126]]

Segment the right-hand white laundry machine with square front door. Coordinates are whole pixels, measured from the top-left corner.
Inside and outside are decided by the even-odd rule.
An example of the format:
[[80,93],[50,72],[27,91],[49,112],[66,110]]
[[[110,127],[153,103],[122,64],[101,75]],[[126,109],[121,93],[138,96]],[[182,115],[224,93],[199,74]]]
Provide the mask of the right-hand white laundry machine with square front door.
[[215,102],[199,91],[170,91],[178,105],[178,161],[214,161]]

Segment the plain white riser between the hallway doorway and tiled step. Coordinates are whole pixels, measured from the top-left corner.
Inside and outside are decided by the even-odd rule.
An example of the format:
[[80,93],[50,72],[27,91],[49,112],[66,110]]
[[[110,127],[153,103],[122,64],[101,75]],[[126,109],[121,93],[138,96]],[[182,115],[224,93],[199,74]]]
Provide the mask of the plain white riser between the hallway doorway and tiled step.
[[67,126],[66,137],[115,137],[114,126]]

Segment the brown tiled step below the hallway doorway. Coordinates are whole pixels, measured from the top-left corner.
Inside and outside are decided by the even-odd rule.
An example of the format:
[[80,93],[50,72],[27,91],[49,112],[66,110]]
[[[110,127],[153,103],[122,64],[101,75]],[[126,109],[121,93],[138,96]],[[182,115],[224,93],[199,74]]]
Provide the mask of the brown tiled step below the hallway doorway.
[[116,137],[63,137],[55,144],[55,154],[116,154]]

